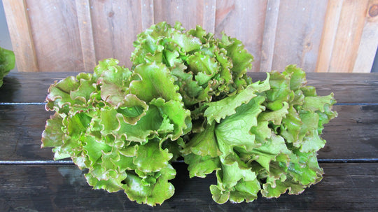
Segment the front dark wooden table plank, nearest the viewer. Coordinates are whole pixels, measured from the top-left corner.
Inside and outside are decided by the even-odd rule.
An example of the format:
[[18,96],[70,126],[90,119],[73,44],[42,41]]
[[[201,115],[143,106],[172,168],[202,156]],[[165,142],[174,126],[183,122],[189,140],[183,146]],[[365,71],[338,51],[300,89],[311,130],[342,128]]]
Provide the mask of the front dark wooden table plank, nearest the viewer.
[[0,166],[2,211],[374,211],[378,208],[376,163],[321,164],[323,181],[301,195],[254,202],[216,204],[207,178],[188,178],[185,164],[175,164],[176,188],[162,206],[130,202],[123,192],[92,190],[76,166]]

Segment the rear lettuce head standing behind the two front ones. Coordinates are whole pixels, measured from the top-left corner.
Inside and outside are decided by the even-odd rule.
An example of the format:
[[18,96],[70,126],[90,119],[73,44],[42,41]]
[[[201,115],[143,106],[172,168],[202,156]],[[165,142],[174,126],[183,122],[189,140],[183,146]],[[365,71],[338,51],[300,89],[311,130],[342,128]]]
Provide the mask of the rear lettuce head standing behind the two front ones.
[[237,94],[251,83],[246,71],[253,57],[241,41],[225,34],[216,39],[200,26],[185,31],[180,23],[160,22],[139,34],[134,46],[134,67],[148,62],[167,66],[194,126],[203,125],[204,103]]

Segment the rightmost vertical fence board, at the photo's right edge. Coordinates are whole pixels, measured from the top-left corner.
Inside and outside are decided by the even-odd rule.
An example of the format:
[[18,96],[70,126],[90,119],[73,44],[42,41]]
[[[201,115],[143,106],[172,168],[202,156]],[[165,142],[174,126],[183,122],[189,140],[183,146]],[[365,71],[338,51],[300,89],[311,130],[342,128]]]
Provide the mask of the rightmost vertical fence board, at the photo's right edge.
[[367,17],[362,33],[353,72],[369,73],[378,46],[378,0],[370,1],[367,6]]

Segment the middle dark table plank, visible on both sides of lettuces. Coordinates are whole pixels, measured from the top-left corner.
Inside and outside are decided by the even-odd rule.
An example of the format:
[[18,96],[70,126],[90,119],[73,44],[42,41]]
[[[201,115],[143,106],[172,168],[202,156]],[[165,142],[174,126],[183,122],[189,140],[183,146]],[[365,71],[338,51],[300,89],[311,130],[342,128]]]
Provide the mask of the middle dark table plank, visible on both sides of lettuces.
[[[335,106],[339,117],[325,125],[321,160],[372,159],[378,155],[378,106]],[[43,105],[0,106],[0,160],[52,160],[51,148],[41,149],[41,134],[52,112]]]

